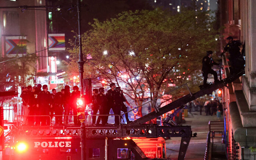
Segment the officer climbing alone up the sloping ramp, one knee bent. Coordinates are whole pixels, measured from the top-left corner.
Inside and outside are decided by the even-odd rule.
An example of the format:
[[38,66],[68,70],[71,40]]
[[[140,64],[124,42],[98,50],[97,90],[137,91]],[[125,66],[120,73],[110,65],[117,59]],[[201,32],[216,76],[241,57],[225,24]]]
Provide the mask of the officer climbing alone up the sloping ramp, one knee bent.
[[207,86],[207,78],[208,74],[212,74],[214,76],[214,82],[218,82],[218,75],[217,73],[211,69],[213,65],[219,65],[218,63],[214,62],[211,56],[213,55],[213,51],[209,50],[206,52],[207,56],[203,57],[202,60],[202,71],[203,71],[203,86]]

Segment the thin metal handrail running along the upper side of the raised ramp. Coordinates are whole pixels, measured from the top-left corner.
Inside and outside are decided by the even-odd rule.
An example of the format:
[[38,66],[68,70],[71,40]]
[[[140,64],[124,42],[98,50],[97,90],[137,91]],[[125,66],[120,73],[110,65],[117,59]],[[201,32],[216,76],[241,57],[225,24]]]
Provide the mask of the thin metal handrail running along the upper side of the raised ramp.
[[[172,90],[170,90],[170,91],[168,91],[168,92],[165,92],[163,95],[160,95],[159,97],[156,97],[155,99],[152,99],[151,101],[146,102],[146,103],[142,104],[141,106],[135,107],[134,109],[129,110],[129,111],[125,112],[125,113],[129,113],[129,112],[131,112],[131,111],[133,111],[133,110],[136,110],[136,109],[138,109],[138,108],[140,108],[140,107],[142,107],[142,106],[144,106],[145,104],[148,104],[148,103],[151,103],[152,106],[154,107],[154,110],[155,110],[156,112],[158,112],[160,106],[157,104],[157,99],[163,97],[164,95],[168,95],[168,94],[170,94],[171,92],[174,92],[175,90],[181,89],[181,88],[184,87],[184,86],[185,86],[186,89],[188,90],[189,94],[192,96],[193,94],[192,94],[191,90],[189,89],[188,83],[192,83],[194,80],[196,80],[196,79],[198,79],[198,78],[200,78],[200,77],[202,77],[202,76],[199,76],[199,77],[197,77],[197,78],[195,78],[195,79],[192,79],[191,81],[189,81],[189,82],[187,82],[187,83],[184,83],[183,85],[181,85],[181,86],[179,86],[179,87],[177,87],[177,88],[174,88],[174,89],[172,89]],[[122,113],[121,116],[124,115],[125,113]]]

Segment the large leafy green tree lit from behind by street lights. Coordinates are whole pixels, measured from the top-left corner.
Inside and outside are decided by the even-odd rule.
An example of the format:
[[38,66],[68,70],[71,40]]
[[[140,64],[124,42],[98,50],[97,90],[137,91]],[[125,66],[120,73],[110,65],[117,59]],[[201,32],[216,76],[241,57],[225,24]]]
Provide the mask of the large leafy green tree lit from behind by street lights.
[[[127,11],[104,22],[95,19],[91,25],[93,29],[82,35],[83,53],[92,56],[85,77],[125,86],[138,106],[198,75],[202,57],[215,48],[218,36],[207,12],[172,15],[161,8]],[[70,52],[69,71],[78,72],[75,51]],[[185,93],[179,92],[177,96]]]

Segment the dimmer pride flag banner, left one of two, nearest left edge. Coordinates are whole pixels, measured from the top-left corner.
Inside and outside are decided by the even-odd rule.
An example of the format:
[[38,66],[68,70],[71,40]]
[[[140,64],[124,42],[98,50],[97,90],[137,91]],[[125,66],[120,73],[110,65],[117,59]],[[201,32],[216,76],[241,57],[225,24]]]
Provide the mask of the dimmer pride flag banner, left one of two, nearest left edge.
[[5,54],[15,56],[17,54],[26,54],[26,36],[4,36]]

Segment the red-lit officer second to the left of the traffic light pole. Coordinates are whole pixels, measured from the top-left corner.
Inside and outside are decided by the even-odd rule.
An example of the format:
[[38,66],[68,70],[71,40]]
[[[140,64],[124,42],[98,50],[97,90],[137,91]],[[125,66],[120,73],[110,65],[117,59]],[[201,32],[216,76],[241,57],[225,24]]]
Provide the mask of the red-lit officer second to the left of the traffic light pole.
[[64,124],[68,123],[68,115],[70,112],[71,107],[71,93],[70,93],[70,86],[66,85],[64,87],[64,95],[63,95],[63,107],[64,107]]

